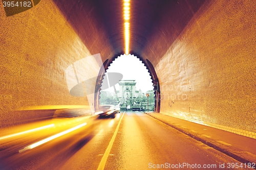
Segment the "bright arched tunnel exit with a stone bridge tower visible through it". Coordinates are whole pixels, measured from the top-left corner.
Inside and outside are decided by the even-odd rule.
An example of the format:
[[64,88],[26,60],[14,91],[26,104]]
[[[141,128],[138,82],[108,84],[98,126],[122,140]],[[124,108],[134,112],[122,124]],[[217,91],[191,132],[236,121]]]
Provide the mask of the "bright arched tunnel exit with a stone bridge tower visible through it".
[[[121,55],[114,58],[105,70],[106,74],[100,72],[103,77],[99,75],[102,83],[98,89],[100,91],[96,92],[100,94],[98,103],[100,105],[118,104],[121,110],[159,112],[160,99],[157,99],[160,93],[159,82],[153,65],[148,60],[146,62],[146,64],[143,63],[134,55]],[[118,77],[115,72],[121,73],[122,77]],[[97,96],[95,97],[97,100]]]

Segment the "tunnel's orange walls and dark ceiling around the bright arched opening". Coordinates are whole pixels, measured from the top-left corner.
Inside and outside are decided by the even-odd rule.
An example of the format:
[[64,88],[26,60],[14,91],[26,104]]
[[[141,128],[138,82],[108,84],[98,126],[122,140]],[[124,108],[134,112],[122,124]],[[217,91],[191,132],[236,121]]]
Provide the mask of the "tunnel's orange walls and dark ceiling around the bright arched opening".
[[[2,128],[56,109],[97,110],[105,70],[126,53],[122,1],[31,2],[0,7]],[[255,9],[254,1],[131,1],[128,54],[151,74],[156,112],[255,138]],[[84,85],[92,100],[71,95],[65,71],[96,54],[100,62],[81,66],[86,78],[96,72]]]

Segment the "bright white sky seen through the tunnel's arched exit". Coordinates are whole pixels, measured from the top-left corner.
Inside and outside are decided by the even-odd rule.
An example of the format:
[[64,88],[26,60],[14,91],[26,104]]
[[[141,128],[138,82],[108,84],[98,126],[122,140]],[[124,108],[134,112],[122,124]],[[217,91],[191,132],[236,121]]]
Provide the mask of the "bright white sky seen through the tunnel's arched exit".
[[[136,80],[136,89],[141,89],[142,92],[153,90],[153,83],[150,73],[144,64],[134,55],[121,55],[112,64],[106,72],[118,72],[123,75],[122,80]],[[103,81],[106,80],[105,78]],[[103,82],[104,83],[104,82]],[[119,90],[119,85],[115,85],[116,90]],[[114,88],[108,88],[104,91],[114,91]]]

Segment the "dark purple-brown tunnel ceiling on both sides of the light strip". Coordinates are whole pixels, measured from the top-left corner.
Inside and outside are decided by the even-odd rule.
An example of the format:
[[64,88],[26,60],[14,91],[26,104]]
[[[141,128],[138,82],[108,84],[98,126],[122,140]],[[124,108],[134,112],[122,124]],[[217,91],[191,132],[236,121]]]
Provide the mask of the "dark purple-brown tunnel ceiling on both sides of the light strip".
[[[130,53],[157,64],[204,2],[130,1]],[[122,1],[55,0],[54,3],[91,54],[100,53],[106,60],[124,53]]]

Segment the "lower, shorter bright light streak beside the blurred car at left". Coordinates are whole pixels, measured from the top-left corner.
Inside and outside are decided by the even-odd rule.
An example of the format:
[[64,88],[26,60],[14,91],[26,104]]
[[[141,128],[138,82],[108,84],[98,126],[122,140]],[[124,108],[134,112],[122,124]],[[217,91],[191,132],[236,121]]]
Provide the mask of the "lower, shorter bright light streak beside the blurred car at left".
[[22,152],[24,152],[24,151],[31,150],[31,149],[33,149],[33,148],[38,147],[38,146],[41,145],[41,144],[44,144],[44,143],[46,143],[46,142],[48,142],[48,141],[50,141],[50,140],[53,140],[53,139],[55,139],[55,138],[57,138],[57,137],[60,137],[60,136],[62,136],[62,135],[65,135],[65,134],[67,134],[67,133],[70,133],[70,132],[72,132],[72,131],[75,131],[75,130],[77,130],[77,129],[83,127],[83,126],[86,126],[86,125],[87,125],[87,123],[83,123],[83,124],[80,124],[80,125],[78,125],[78,126],[75,126],[75,127],[71,128],[71,129],[68,129],[68,130],[66,130],[66,131],[60,132],[60,133],[58,133],[58,134],[56,134],[56,135],[53,135],[53,136],[50,136],[50,137],[48,137],[48,138],[42,139],[42,140],[40,140],[40,141],[38,141],[38,142],[35,142],[35,143],[29,145],[28,147],[25,147],[25,148],[22,149],[22,150],[19,150],[18,152],[19,152],[19,153],[22,153]]

